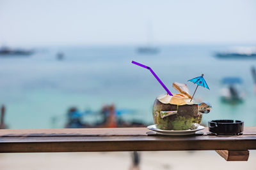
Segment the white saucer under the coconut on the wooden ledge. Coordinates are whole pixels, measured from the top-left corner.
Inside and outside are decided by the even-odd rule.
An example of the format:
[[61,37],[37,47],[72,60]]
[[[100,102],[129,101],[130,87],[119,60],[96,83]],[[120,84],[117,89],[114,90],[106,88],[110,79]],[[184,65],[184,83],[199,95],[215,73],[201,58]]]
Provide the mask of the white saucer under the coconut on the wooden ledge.
[[149,125],[147,127],[148,129],[157,132],[157,134],[162,134],[162,135],[189,135],[189,134],[195,134],[196,131],[200,131],[203,130],[205,127],[202,125],[199,125],[197,129],[188,129],[188,130],[184,130],[184,131],[166,131],[166,130],[161,130],[161,129],[157,129],[156,125]]

